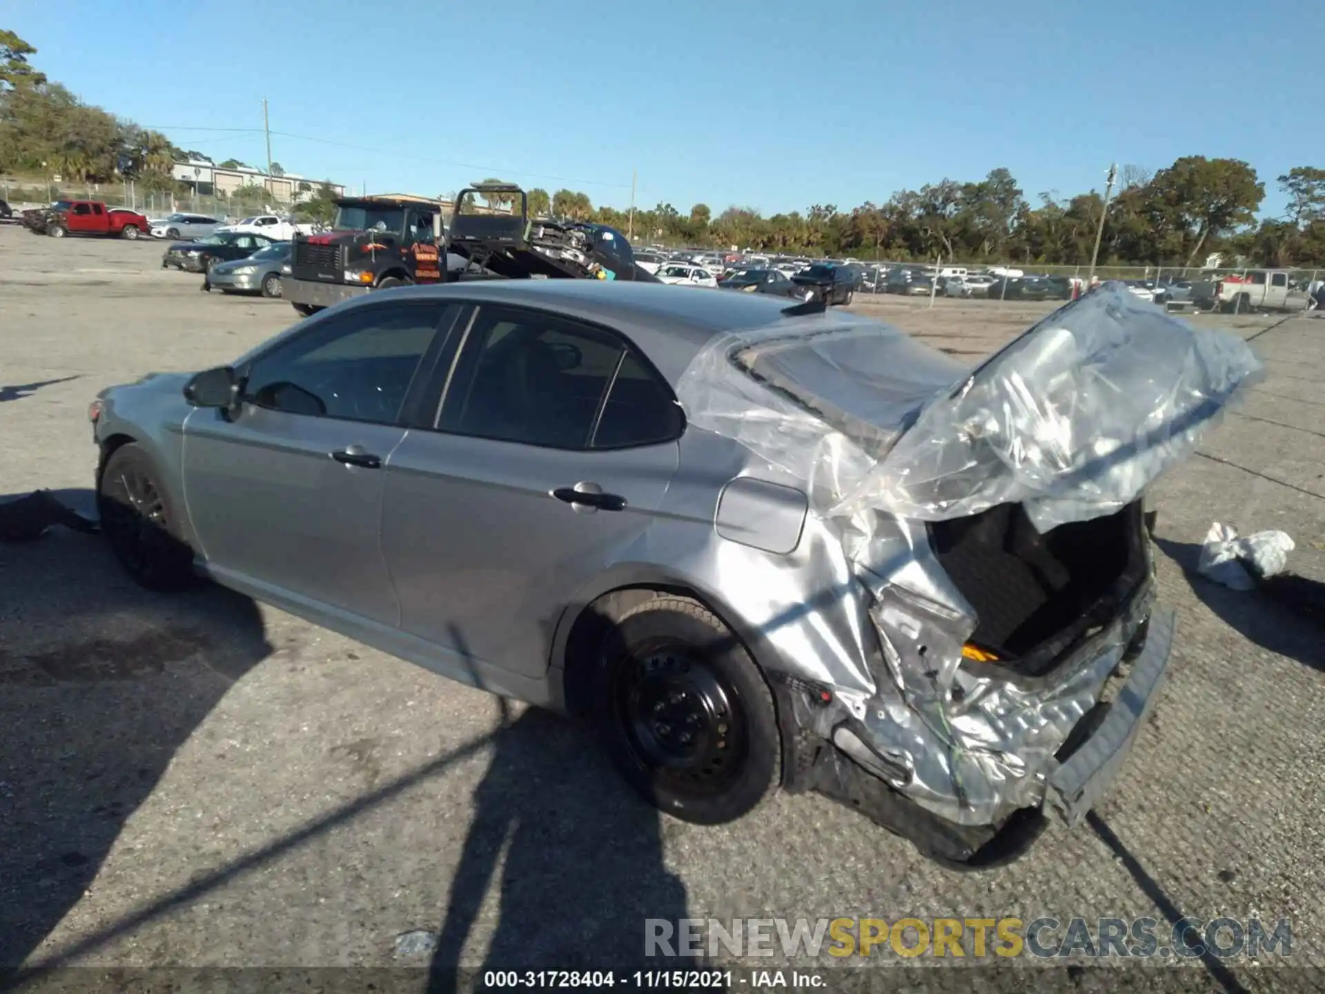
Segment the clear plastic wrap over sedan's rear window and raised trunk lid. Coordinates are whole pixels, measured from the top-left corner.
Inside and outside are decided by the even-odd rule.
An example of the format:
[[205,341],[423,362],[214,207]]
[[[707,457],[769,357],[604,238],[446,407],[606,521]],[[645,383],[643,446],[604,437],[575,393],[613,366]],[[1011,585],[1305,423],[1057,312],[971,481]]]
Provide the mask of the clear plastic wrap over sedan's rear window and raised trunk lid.
[[721,338],[677,395],[696,427],[810,481],[828,516],[942,521],[1019,502],[1048,531],[1137,500],[1263,371],[1238,335],[1105,284],[974,371],[825,315]]

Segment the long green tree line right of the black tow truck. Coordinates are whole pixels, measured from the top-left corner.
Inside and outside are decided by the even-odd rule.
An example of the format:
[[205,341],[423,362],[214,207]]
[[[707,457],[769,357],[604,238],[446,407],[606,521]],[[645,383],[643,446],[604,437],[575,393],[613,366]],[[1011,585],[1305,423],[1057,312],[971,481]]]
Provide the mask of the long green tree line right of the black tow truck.
[[[1296,167],[1277,183],[1288,212],[1257,220],[1265,184],[1246,162],[1189,155],[1154,174],[1129,167],[1108,204],[1098,261],[1192,266],[1218,252],[1226,265],[1325,268],[1325,168]],[[1088,264],[1105,209],[1100,191],[1031,200],[1006,168],[977,182],[943,179],[902,190],[849,211],[814,204],[771,216],[753,207],[714,216],[708,204],[689,212],[668,203],[633,212],[595,208],[571,190],[530,190],[527,197],[530,215],[610,224],[633,232],[636,244],[1040,265]]]

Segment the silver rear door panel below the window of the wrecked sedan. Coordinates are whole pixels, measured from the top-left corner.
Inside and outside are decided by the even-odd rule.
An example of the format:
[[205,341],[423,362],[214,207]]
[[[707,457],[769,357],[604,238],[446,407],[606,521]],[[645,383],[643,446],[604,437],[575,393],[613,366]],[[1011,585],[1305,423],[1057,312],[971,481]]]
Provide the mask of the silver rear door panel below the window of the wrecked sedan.
[[[454,661],[542,676],[568,594],[649,541],[676,465],[676,443],[566,452],[412,431],[387,465],[382,522],[401,628]],[[551,496],[582,482],[625,509]]]

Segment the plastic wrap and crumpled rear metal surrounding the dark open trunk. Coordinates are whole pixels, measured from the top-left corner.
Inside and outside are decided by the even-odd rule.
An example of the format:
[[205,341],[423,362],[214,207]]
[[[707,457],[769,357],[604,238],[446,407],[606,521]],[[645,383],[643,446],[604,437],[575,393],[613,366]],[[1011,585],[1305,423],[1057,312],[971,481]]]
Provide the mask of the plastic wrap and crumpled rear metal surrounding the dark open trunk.
[[808,484],[869,606],[881,657],[815,660],[839,675],[843,706],[796,720],[939,816],[990,824],[1041,803],[1055,754],[1150,611],[1153,578],[1049,684],[977,676],[961,665],[975,612],[925,522],[1010,501],[1041,530],[1112,513],[1261,370],[1240,338],[1106,285],[975,371],[833,315],[723,338],[677,394],[692,424]]

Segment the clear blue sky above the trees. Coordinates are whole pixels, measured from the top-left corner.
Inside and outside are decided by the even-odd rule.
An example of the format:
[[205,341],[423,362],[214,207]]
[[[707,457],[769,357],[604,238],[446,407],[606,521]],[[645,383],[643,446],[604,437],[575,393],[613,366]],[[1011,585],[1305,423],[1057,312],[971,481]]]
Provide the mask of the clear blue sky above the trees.
[[1318,0],[0,0],[0,25],[217,160],[265,163],[266,97],[274,160],[370,192],[497,175],[625,207],[637,170],[641,205],[772,213],[999,166],[1069,196],[1195,154],[1248,160],[1277,213],[1275,178],[1325,166]]

